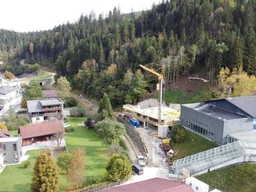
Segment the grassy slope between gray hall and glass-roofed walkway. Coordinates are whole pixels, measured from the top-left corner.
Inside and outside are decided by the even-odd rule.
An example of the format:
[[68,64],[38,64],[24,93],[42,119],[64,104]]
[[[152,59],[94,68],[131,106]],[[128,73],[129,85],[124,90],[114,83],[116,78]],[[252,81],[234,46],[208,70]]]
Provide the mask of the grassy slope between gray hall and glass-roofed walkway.
[[173,148],[179,150],[175,159],[190,156],[214,147],[218,147],[218,145],[187,130],[185,130],[185,140],[183,143],[173,143]]

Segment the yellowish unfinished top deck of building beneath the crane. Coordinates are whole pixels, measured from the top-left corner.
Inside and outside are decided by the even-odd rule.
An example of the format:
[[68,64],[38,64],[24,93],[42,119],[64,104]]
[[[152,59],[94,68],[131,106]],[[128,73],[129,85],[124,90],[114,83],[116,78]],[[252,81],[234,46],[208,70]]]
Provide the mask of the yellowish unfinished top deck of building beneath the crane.
[[[149,116],[154,119],[158,119],[158,107],[141,109],[140,106],[132,106],[130,104],[124,105],[123,108],[134,113],[140,113],[141,115]],[[161,106],[161,118],[179,118],[180,113],[172,108]]]

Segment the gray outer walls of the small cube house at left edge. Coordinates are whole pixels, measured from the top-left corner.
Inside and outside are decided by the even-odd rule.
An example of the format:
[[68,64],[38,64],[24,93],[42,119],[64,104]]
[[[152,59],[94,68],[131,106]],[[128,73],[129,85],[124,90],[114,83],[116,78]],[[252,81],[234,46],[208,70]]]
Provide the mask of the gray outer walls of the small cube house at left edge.
[[[13,144],[16,144],[17,150],[13,150]],[[6,145],[6,151],[3,153],[3,164],[13,164],[13,163],[19,163],[20,157],[22,156],[22,139],[19,138],[18,141],[10,141],[10,142],[4,142],[2,145]]]

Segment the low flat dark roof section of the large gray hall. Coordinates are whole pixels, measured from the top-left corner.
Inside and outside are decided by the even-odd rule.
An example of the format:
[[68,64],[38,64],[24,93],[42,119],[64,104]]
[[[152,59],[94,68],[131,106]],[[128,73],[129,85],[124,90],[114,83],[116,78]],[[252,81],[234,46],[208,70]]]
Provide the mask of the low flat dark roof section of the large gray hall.
[[205,104],[204,106],[200,106],[195,109],[196,111],[200,111],[214,118],[218,118],[221,120],[232,120],[237,118],[247,118],[247,116],[240,115],[238,113],[232,113],[231,111],[227,111],[216,106],[212,106],[209,104]]

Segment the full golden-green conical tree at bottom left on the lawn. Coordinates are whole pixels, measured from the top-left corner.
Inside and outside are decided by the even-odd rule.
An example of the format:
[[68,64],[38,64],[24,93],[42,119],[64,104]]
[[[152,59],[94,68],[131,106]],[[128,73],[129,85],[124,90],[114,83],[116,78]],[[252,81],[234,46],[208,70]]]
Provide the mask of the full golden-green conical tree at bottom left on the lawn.
[[60,170],[51,156],[51,151],[45,150],[37,157],[31,180],[31,191],[58,191],[60,186]]

